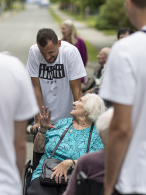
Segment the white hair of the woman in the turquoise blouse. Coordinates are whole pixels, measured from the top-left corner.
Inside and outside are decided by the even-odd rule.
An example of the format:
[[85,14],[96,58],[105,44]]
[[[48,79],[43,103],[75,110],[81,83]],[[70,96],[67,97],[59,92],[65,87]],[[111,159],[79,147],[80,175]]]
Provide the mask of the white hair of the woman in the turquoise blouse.
[[96,94],[86,94],[87,97],[84,110],[89,113],[88,118],[95,122],[98,117],[105,112],[106,107],[104,101]]

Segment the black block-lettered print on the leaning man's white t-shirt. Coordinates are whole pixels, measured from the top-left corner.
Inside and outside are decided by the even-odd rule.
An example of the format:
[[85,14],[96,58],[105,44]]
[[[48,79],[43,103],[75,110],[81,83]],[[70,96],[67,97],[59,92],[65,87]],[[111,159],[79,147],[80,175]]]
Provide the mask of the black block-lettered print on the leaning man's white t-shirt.
[[39,78],[53,80],[61,79],[65,77],[64,65],[55,64],[54,66],[47,66],[46,64],[40,64]]

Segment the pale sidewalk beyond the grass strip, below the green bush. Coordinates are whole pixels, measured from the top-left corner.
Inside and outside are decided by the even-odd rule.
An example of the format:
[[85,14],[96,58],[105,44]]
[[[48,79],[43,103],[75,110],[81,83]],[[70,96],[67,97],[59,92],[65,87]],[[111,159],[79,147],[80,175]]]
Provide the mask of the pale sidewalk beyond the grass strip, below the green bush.
[[115,35],[104,35],[102,32],[88,27],[85,23],[75,20],[73,17],[60,11],[58,9],[58,5],[51,5],[51,8],[61,20],[71,19],[74,22],[79,35],[98,50],[101,50],[103,47],[111,47],[112,44],[117,40]]

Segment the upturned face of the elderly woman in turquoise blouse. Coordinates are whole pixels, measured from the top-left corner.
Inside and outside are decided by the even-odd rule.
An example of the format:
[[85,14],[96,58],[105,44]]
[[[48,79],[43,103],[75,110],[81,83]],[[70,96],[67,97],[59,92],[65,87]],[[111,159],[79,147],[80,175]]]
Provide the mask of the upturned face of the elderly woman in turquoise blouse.
[[76,117],[85,116],[85,114],[87,113],[84,110],[86,99],[87,99],[87,97],[83,96],[78,101],[73,102],[74,109],[70,112],[70,114],[74,115]]

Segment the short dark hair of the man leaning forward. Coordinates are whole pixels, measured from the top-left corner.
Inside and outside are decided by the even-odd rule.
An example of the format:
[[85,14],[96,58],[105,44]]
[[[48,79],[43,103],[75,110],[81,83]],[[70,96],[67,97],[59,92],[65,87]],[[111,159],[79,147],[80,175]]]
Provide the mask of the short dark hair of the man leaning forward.
[[41,47],[45,47],[48,44],[48,41],[52,41],[54,45],[57,45],[58,37],[52,29],[42,28],[37,33],[36,41]]

